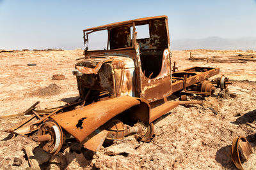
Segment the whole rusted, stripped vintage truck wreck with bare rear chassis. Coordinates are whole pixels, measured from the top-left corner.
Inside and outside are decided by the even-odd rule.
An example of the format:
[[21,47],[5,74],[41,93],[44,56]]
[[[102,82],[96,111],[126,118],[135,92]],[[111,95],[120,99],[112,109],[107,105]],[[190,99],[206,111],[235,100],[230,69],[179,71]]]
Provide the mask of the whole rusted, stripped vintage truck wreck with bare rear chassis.
[[[147,25],[149,37],[138,38],[136,28]],[[45,152],[56,154],[65,140],[75,138],[96,152],[104,141],[134,135],[150,141],[157,118],[178,106],[201,101],[170,101],[175,93],[210,96],[226,88],[227,78],[209,81],[219,68],[172,67],[168,18],[138,18],[84,29],[84,44],[92,32],[108,31],[107,48],[84,50],[74,71],[80,98],[72,104],[32,115],[6,130],[30,136]]]

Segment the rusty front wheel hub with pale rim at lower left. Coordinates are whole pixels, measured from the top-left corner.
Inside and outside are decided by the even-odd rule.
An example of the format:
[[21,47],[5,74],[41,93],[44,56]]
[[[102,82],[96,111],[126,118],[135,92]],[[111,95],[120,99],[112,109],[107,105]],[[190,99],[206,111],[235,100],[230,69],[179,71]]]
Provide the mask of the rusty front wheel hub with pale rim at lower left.
[[[51,136],[50,138],[42,138],[44,136]],[[38,129],[36,136],[39,139],[40,147],[48,153],[55,155],[58,153],[63,145],[63,131],[60,125],[54,120],[48,120]]]

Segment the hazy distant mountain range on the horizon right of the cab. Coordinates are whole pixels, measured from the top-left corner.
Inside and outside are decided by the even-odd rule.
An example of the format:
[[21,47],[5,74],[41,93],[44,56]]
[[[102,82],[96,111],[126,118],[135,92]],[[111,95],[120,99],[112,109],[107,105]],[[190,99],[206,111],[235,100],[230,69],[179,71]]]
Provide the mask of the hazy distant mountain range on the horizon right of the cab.
[[171,50],[256,50],[256,37],[226,39],[209,37],[204,39],[171,40]]

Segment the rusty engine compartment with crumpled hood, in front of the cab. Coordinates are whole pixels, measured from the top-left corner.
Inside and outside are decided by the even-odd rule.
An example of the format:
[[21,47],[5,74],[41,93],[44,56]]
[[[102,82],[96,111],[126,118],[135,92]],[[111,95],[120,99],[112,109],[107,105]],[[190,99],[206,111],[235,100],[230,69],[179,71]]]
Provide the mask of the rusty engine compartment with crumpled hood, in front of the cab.
[[114,97],[134,96],[134,67],[132,59],[111,55],[85,59],[77,63],[76,68],[83,73],[82,76],[77,76],[80,96],[85,96],[84,88],[108,90],[109,95]]

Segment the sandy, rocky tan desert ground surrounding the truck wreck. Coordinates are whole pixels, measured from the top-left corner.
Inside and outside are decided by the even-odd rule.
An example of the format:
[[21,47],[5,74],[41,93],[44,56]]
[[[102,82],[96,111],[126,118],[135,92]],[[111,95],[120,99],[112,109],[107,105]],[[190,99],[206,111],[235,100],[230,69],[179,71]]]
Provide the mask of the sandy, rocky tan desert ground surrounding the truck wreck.
[[[60,153],[51,156],[36,148],[42,169],[236,169],[230,159],[230,145],[235,136],[246,136],[256,152],[256,62],[211,62],[188,60],[190,51],[173,51],[172,61],[179,69],[192,66],[220,67],[230,78],[231,97],[206,97],[204,104],[178,106],[156,123],[156,135],[149,143],[128,136],[124,141],[102,147],[94,155],[79,143],[67,143]],[[241,50],[192,50],[193,57],[227,59],[256,52]],[[38,109],[74,101],[79,96],[72,70],[82,50],[51,52],[0,53],[0,116],[25,111],[36,101]],[[36,66],[28,66],[34,63]],[[52,80],[64,74],[65,80]],[[213,113],[209,107],[214,108]],[[3,132],[25,118],[0,120],[0,169],[25,169],[28,161],[22,148],[36,147],[31,139],[11,138]],[[19,157],[22,164],[12,166]],[[248,169],[256,169],[252,154]]]

